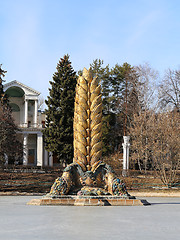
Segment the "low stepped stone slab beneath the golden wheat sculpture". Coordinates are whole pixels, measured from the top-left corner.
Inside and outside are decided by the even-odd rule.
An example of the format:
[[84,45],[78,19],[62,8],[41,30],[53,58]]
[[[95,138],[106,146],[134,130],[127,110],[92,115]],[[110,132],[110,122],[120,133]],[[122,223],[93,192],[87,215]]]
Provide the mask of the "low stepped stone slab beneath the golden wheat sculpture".
[[60,206],[146,206],[150,205],[146,200],[134,197],[119,196],[59,196],[32,199],[28,205],[60,205]]

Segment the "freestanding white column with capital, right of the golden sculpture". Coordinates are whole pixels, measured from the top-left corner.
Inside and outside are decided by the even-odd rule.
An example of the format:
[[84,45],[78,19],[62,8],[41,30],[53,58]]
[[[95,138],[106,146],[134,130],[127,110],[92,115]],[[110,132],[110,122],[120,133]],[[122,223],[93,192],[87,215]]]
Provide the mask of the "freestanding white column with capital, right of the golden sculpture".
[[128,170],[129,170],[129,147],[130,147],[130,143],[129,143],[129,136],[123,136],[124,139],[124,143],[122,144],[123,146],[123,171],[122,171],[122,175],[125,177],[128,174]]

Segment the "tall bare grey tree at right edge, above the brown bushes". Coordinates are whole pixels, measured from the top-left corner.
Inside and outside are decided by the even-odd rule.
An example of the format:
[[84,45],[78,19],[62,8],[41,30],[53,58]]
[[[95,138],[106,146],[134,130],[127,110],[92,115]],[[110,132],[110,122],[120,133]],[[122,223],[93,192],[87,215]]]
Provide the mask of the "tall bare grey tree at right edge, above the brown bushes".
[[159,86],[159,101],[161,109],[180,111],[180,70],[167,70]]

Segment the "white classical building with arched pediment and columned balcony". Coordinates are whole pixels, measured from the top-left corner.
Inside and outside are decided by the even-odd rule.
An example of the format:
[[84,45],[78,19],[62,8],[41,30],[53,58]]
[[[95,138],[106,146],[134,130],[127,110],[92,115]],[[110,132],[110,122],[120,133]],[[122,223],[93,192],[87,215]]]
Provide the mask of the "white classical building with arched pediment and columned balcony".
[[9,97],[13,118],[20,129],[18,137],[24,145],[23,165],[53,166],[53,157],[43,146],[45,114],[38,111],[40,93],[16,80],[5,84],[4,91]]

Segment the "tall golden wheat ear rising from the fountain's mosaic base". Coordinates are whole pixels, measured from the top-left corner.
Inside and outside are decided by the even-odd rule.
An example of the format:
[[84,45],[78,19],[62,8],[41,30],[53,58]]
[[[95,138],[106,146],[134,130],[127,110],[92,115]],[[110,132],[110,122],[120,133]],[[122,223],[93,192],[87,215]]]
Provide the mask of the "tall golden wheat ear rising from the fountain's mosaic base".
[[74,162],[93,171],[102,155],[102,99],[98,77],[84,68],[76,85]]

